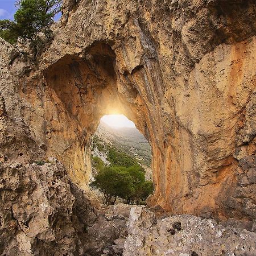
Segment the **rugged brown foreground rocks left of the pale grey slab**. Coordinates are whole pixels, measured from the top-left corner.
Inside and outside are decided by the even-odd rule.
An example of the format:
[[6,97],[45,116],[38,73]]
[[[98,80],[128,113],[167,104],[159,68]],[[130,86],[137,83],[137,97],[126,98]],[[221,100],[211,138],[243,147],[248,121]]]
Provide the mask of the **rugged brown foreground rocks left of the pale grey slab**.
[[121,255],[130,206],[97,209],[63,164],[0,165],[0,255]]

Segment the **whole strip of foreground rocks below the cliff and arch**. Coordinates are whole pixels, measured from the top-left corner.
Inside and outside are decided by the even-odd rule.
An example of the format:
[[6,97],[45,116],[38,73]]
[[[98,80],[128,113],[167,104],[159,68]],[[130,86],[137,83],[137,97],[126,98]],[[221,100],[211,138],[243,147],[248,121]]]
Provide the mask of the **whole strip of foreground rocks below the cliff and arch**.
[[[92,200],[63,164],[0,165],[0,255],[255,255],[256,222]],[[90,200],[88,199],[90,197]],[[247,229],[247,230],[246,230]]]

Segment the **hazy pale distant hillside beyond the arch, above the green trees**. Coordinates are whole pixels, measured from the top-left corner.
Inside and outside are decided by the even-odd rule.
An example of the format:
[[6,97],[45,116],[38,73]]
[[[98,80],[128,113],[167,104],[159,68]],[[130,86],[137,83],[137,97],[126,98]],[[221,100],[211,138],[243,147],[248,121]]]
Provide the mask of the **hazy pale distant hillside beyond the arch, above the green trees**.
[[150,144],[136,128],[113,128],[100,122],[96,135],[101,141],[125,152],[143,165],[151,166]]

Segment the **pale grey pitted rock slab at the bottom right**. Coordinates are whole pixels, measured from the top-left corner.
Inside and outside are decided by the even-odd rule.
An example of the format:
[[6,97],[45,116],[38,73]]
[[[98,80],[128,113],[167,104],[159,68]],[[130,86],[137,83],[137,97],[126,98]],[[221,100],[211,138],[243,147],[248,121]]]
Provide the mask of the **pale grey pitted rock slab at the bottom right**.
[[256,254],[255,233],[188,214],[156,219],[150,210],[133,207],[128,233],[124,256]]

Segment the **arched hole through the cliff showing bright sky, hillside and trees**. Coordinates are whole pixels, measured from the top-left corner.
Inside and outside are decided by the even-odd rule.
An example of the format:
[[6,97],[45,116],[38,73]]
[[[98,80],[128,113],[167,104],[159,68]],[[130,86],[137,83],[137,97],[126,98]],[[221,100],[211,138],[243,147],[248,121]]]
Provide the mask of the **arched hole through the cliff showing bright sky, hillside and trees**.
[[98,199],[104,204],[146,204],[154,191],[152,151],[135,123],[123,114],[103,115],[91,145],[89,184]]

